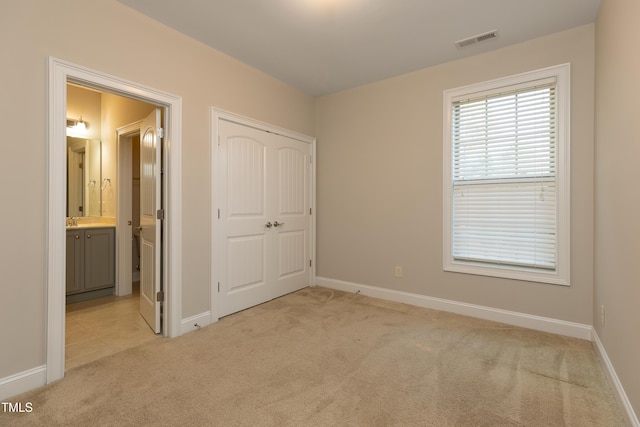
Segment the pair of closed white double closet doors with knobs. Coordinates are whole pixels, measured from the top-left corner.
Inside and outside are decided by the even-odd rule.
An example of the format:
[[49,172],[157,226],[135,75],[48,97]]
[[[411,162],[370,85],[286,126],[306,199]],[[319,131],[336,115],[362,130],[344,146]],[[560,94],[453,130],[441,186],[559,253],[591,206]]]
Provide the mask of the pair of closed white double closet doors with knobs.
[[226,120],[218,132],[222,317],[310,285],[312,148]]

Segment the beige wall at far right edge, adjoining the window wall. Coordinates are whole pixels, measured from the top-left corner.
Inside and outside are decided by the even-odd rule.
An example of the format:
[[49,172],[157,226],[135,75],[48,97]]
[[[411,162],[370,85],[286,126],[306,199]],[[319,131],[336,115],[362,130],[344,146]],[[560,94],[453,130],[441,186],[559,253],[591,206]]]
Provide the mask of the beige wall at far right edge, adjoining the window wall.
[[603,0],[596,21],[594,325],[640,415],[639,17],[637,0]]

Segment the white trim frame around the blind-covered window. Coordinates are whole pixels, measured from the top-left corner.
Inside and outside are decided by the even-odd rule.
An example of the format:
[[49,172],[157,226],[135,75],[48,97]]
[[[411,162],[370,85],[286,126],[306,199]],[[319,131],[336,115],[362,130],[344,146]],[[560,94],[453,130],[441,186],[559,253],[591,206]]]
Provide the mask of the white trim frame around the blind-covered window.
[[[570,64],[561,64],[471,84],[443,92],[443,270],[523,281],[570,286]],[[514,86],[534,87],[535,82],[556,81],[556,268],[544,271],[530,267],[462,261],[453,258],[453,104],[461,98],[477,98],[503,92]]]

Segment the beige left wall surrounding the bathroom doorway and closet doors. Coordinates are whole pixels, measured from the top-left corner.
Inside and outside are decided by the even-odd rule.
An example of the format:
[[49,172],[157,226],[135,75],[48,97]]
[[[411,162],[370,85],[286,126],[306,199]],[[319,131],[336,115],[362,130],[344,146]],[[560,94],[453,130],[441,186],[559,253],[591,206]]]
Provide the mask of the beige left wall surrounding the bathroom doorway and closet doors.
[[45,363],[49,56],[182,97],[182,314],[208,311],[209,108],[313,135],[313,98],[114,0],[3,2],[0,56],[0,378]]

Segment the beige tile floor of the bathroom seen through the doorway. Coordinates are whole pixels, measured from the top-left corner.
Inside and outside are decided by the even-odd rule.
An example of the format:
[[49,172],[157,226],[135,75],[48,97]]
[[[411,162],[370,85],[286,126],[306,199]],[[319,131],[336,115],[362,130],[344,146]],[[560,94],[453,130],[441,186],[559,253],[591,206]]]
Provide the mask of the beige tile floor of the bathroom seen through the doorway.
[[67,304],[65,369],[160,339],[138,311],[139,296],[134,283],[131,295]]

